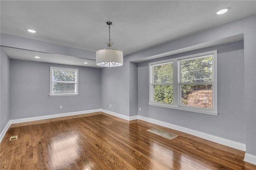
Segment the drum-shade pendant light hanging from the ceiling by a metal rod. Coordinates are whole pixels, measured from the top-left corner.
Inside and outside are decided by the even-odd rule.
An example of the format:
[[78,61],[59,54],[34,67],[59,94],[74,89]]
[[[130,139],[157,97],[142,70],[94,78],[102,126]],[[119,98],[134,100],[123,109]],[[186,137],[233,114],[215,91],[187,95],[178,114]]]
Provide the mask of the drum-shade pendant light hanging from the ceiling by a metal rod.
[[100,49],[96,51],[96,65],[102,67],[118,67],[123,65],[123,52],[117,49],[110,49],[113,42],[110,39],[110,25],[113,23],[108,21],[109,40],[106,42],[109,49]]

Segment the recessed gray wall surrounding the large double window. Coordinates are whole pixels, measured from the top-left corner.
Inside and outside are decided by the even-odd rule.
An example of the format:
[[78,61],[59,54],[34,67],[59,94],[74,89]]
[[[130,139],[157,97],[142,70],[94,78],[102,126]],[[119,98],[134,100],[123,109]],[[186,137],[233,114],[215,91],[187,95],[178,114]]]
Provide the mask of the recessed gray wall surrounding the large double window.
[[[148,105],[149,63],[215,49],[218,50],[218,116]],[[243,79],[243,41],[138,63],[138,107],[142,109],[139,115],[245,143]]]

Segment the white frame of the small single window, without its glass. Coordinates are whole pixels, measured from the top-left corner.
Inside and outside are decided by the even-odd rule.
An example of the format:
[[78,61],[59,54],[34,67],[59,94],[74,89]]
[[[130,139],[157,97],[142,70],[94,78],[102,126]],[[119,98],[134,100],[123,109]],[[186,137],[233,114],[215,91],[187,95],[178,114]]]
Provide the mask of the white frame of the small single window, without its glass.
[[[52,93],[52,70],[58,69],[58,70],[68,70],[68,71],[76,71],[76,79],[75,79],[75,93]],[[77,96],[78,93],[78,69],[72,69],[72,68],[63,68],[63,67],[50,67],[50,97],[54,96]]]

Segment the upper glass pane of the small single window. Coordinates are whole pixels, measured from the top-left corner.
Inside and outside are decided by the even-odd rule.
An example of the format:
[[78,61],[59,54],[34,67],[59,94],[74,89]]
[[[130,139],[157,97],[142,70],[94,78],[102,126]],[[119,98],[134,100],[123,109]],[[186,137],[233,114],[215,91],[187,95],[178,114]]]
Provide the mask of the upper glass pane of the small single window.
[[52,82],[54,81],[76,81],[76,71],[52,70]]

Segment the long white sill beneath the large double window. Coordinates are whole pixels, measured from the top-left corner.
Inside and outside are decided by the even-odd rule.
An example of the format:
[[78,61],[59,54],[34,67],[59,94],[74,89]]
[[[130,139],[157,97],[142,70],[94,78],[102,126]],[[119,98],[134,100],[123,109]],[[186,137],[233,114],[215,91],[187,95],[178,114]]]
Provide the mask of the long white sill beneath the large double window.
[[165,108],[170,108],[170,109],[177,109],[177,110],[182,110],[182,111],[190,111],[190,112],[195,112],[195,113],[203,113],[206,115],[214,115],[217,116],[218,112],[214,112],[214,111],[207,111],[207,110],[203,110],[203,109],[190,109],[187,107],[180,107],[180,106],[174,106],[171,104],[166,104],[166,103],[156,103],[156,102],[150,102],[148,103],[151,106],[157,106],[157,107],[165,107]]

